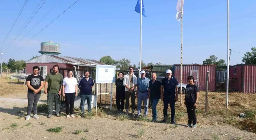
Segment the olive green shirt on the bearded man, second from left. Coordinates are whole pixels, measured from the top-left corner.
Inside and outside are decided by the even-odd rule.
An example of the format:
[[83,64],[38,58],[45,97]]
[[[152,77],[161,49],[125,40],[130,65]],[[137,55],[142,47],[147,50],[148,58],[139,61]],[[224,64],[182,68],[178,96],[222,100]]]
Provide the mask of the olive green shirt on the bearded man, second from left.
[[63,81],[63,76],[60,73],[48,73],[45,81],[48,82],[48,93],[59,93]]

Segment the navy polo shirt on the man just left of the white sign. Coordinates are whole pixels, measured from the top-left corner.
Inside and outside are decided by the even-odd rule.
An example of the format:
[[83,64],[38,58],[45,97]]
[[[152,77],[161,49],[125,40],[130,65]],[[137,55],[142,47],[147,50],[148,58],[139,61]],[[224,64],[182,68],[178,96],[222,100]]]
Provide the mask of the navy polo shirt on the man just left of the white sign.
[[92,95],[92,86],[94,86],[93,79],[89,77],[88,80],[83,77],[79,82],[78,86],[80,87],[81,95]]

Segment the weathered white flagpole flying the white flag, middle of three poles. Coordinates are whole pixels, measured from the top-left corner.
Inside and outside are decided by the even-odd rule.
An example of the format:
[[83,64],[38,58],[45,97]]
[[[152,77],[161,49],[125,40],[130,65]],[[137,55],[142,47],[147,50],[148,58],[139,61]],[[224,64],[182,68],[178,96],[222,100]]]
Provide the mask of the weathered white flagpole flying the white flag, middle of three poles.
[[180,106],[181,106],[181,97],[182,97],[182,47],[183,47],[183,27],[182,27],[182,22],[183,22],[183,7],[182,7],[182,0],[180,0],[180,11],[181,11],[181,21],[180,21]]

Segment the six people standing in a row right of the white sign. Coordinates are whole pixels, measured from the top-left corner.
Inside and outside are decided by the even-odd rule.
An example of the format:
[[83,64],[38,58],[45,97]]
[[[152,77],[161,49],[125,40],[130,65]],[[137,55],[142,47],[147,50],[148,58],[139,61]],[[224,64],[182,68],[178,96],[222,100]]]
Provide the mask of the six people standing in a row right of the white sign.
[[[151,80],[145,77],[144,70],[140,72],[141,77],[137,77],[133,74],[133,67],[129,67],[129,73],[124,75],[123,72],[119,72],[119,78],[116,79],[116,105],[118,113],[123,113],[125,109],[126,115],[129,114],[129,100],[131,97],[132,103],[132,117],[135,117],[135,98],[137,98],[137,114],[141,116],[141,105],[144,102],[144,116],[148,114],[148,100],[152,105],[152,122],[157,121],[157,104],[159,99],[163,101],[163,115],[162,122],[167,121],[167,110],[170,105],[171,108],[171,123],[175,124],[175,102],[178,101],[178,81],[172,76],[171,70],[166,70],[166,77],[159,81],[157,80],[156,73],[152,73]],[[187,78],[188,85],[186,86],[185,101],[184,104],[187,107],[188,124],[192,128],[197,127],[195,109],[197,106],[199,88],[194,84],[194,77],[189,76]],[[136,89],[137,87],[137,89]],[[136,93],[135,93],[136,91]],[[124,104],[125,101],[125,104]]]

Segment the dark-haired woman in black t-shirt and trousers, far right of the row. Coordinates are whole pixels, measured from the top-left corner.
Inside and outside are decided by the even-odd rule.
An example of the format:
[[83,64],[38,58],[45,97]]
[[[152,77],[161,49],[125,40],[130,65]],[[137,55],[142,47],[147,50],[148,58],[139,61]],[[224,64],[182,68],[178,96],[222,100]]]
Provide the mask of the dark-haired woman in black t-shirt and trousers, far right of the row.
[[[186,86],[186,92],[185,92],[185,102],[184,104],[187,107],[187,113],[188,113],[188,124],[187,127],[196,128],[196,106],[197,106],[197,100],[199,96],[199,88],[197,85],[194,84],[195,78],[193,76],[188,77],[188,85]],[[193,123],[193,125],[192,125]]]

